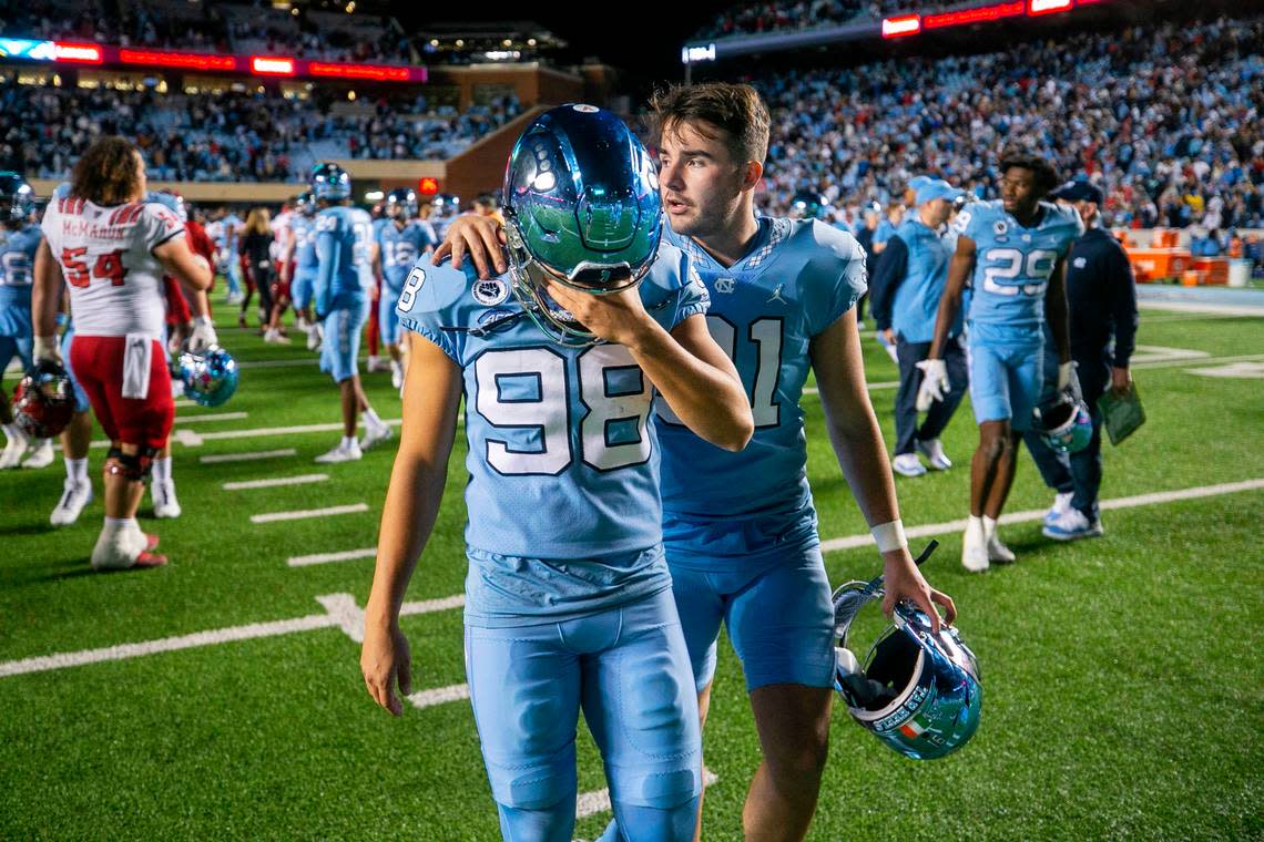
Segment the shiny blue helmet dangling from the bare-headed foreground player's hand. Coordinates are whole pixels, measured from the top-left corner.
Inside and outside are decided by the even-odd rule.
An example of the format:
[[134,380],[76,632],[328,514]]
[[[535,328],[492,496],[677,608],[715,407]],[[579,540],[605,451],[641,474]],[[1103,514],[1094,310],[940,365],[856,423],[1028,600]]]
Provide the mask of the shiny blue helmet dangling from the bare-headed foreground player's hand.
[[[932,542],[918,562],[935,547]],[[834,689],[852,718],[899,754],[914,760],[943,757],[978,728],[983,706],[978,663],[956,629],[940,625],[933,634],[930,619],[901,601],[862,665],[848,646],[848,631],[861,608],[882,596],[882,577],[868,584],[848,582],[834,592]]]

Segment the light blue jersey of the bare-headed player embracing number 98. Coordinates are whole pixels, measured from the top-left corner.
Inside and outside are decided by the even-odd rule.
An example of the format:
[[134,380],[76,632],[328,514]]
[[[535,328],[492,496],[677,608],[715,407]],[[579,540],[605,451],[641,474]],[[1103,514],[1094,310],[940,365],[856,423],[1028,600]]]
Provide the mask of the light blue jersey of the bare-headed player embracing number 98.
[[746,256],[724,269],[667,226],[664,237],[693,259],[710,294],[707,324],[737,366],[755,415],[753,438],[729,453],[676,423],[660,399],[664,509],[707,520],[810,506],[799,408],[809,345],[863,294],[865,250],[824,222],[763,217]]

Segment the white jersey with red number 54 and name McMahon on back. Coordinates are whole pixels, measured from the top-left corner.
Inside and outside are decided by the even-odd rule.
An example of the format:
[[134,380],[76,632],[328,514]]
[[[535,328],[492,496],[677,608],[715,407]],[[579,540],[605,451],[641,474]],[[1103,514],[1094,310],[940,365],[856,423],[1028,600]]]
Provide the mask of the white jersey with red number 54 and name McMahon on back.
[[185,235],[174,213],[155,202],[101,207],[68,196],[49,202],[40,227],[70,289],[77,335],[162,338],[163,269],[153,250]]

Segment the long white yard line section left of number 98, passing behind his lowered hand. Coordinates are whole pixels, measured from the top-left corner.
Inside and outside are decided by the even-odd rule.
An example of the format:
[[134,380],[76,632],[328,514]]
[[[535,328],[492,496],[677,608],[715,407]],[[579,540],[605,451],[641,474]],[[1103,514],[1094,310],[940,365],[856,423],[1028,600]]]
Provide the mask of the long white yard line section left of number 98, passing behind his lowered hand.
[[[276,637],[296,631],[312,631],[316,629],[343,627],[348,621],[346,606],[354,606],[355,598],[350,593],[329,593],[316,597],[316,601],[325,607],[325,614],[310,614],[306,617],[293,620],[273,620],[272,622],[250,622],[244,626],[226,626],[210,631],[196,631],[191,635],[178,635],[174,637],[159,637],[135,644],[119,644],[116,646],[104,646],[101,649],[85,649],[82,651],[58,653],[54,655],[38,655],[35,658],[23,658],[20,660],[8,660],[0,663],[0,678],[9,675],[24,675],[27,673],[44,673],[52,669],[66,669],[68,667],[83,667],[86,664],[99,664],[107,660],[128,660],[144,655],[155,655],[164,651],[178,651],[181,649],[196,649],[198,646],[215,646],[236,640],[254,640],[257,637]],[[326,602],[339,611],[326,606]],[[425,600],[421,602],[404,602],[399,607],[399,616],[416,614],[432,614],[435,611],[450,611],[465,605],[464,596],[444,597],[440,600]],[[360,615],[363,617],[363,612]],[[363,621],[362,621],[363,622]]]

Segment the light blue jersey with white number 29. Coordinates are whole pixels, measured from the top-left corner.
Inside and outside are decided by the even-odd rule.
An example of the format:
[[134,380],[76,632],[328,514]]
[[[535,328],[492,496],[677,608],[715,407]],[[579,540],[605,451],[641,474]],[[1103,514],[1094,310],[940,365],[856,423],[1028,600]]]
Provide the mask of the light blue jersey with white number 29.
[[953,221],[961,236],[975,241],[976,261],[969,300],[972,338],[1025,340],[1040,332],[1044,293],[1053,268],[1085,231],[1074,208],[1040,202],[1033,227],[1005,211],[1001,199],[973,202]]

